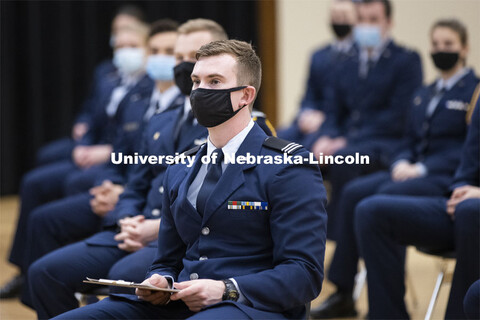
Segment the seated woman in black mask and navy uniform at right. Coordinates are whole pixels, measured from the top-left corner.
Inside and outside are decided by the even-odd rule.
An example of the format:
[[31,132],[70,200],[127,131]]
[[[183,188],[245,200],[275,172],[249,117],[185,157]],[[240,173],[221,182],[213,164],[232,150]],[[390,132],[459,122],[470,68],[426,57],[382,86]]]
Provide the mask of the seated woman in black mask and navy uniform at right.
[[[376,193],[443,196],[453,180],[467,133],[466,108],[479,80],[465,67],[467,31],[459,21],[437,21],[431,48],[440,77],[414,95],[405,144],[391,170],[357,178],[343,189],[337,246],[328,273],[337,292],[312,311],[316,318],[356,314],[352,291],[358,263],[353,225],[357,204]],[[457,58],[446,63],[445,57],[455,54]]]

